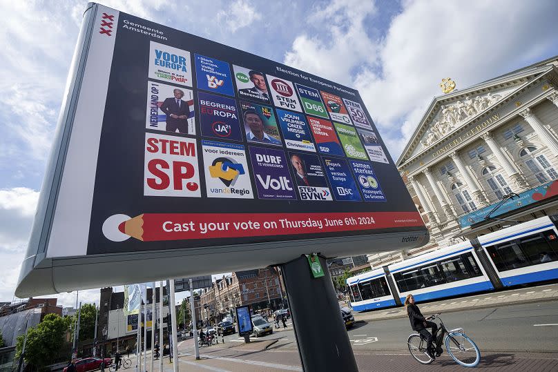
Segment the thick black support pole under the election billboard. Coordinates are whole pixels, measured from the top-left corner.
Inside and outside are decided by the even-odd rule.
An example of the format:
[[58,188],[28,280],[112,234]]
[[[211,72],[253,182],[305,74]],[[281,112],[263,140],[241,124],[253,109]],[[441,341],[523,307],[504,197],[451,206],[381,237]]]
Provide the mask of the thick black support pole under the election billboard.
[[[318,257],[321,266],[326,268],[325,257]],[[282,264],[281,272],[302,369],[358,371],[329,271],[324,270],[322,277],[314,278],[309,260],[302,255]]]

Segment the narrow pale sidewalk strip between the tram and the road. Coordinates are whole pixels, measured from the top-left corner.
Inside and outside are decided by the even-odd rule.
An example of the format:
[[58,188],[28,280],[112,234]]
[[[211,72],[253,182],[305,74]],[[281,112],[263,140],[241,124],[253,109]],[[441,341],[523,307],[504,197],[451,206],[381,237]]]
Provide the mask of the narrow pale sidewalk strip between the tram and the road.
[[[459,298],[445,299],[434,302],[417,303],[423,313],[450,313],[461,311],[463,308],[482,309],[488,307],[506,306],[509,304],[525,304],[528,302],[540,302],[558,300],[558,284],[546,284],[528,288],[518,288],[505,291],[494,291],[483,294],[465,295]],[[340,302],[345,306],[345,302]],[[366,311],[363,313],[353,312],[355,322],[368,320],[384,320],[396,317],[407,317],[405,306]]]

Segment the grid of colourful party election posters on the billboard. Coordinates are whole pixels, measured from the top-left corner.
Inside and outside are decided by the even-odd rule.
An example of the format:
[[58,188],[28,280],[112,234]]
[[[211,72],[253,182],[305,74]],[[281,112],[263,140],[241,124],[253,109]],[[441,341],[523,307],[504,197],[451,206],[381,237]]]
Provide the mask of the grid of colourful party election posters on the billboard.
[[155,41],[149,58],[144,195],[202,197],[203,166],[207,197],[386,201],[358,102]]

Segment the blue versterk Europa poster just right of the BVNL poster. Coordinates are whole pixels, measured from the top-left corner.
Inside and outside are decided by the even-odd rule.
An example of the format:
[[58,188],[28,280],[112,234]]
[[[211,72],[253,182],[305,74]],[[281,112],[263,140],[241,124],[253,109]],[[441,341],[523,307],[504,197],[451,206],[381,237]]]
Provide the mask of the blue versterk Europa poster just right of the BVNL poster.
[[347,161],[325,157],[324,164],[335,199],[347,202],[360,202],[362,199],[360,199],[358,188]]

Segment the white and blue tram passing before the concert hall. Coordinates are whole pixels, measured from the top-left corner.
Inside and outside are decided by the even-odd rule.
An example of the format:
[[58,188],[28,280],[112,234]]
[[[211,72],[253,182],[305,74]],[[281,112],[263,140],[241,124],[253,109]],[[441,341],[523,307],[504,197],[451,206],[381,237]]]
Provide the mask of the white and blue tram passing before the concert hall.
[[355,311],[558,279],[558,216],[541,217],[347,279]]

